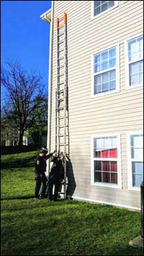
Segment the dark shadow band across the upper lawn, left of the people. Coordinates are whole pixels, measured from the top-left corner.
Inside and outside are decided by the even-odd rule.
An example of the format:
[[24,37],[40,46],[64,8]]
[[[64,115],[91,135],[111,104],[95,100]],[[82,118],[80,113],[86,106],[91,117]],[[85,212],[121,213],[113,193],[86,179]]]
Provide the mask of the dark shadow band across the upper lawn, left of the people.
[[33,167],[35,165],[35,156],[26,159],[14,159],[9,162],[1,162],[1,169]]

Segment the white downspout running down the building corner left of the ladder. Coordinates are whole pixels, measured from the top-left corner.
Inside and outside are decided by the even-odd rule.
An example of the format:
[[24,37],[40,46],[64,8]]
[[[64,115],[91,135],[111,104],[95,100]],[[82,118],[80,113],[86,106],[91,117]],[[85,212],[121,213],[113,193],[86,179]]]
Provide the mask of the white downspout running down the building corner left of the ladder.
[[[47,125],[47,148],[51,152],[51,90],[52,90],[52,69],[53,69],[53,41],[54,41],[54,1],[51,1],[51,27],[49,43],[49,102],[48,102],[48,125]],[[50,169],[50,161],[47,164],[47,176]]]

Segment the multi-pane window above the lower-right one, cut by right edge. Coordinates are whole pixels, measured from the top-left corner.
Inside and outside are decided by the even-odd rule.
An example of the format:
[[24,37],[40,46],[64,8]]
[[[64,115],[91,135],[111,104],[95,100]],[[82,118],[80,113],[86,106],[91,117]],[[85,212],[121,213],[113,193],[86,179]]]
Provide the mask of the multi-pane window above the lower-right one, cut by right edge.
[[143,36],[127,41],[127,89],[143,85]]

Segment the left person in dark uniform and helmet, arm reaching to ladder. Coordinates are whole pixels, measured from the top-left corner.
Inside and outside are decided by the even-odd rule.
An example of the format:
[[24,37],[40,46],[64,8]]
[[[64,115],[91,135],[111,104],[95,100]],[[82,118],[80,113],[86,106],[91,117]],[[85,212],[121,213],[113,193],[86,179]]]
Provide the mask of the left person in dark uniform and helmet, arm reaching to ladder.
[[[55,152],[55,151],[54,151]],[[45,176],[45,171],[47,168],[47,159],[52,157],[54,152],[47,155],[47,149],[41,148],[40,153],[35,161],[35,197],[34,199],[45,198],[45,191],[47,188],[47,178]],[[42,191],[39,196],[40,187],[42,184]]]

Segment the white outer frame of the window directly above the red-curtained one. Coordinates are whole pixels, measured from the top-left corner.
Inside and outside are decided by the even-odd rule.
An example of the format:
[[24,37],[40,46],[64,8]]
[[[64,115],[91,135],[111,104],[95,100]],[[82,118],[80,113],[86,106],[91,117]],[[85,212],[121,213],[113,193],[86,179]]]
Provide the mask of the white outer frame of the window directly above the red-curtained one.
[[[105,69],[104,71],[100,71],[97,73],[94,73],[94,56],[97,55],[100,52],[103,52],[105,50],[109,50],[111,48],[116,48],[116,65],[115,68],[111,68],[111,69]],[[108,71],[111,71],[115,69],[115,90],[109,91],[109,92],[102,92],[99,94],[94,94],[94,76],[99,75],[101,73],[105,73]],[[95,97],[102,97],[104,95],[107,94],[113,94],[115,92],[120,92],[120,44],[117,43],[116,45],[111,45],[109,46],[109,48],[102,48],[101,50],[93,53],[91,55],[91,97],[95,98]]]

